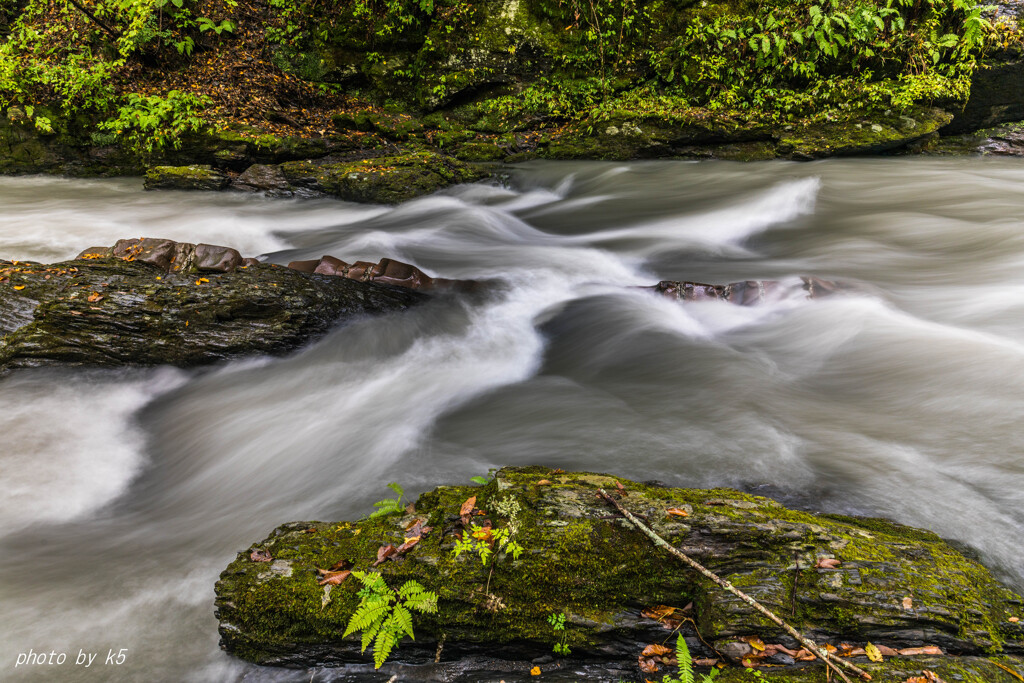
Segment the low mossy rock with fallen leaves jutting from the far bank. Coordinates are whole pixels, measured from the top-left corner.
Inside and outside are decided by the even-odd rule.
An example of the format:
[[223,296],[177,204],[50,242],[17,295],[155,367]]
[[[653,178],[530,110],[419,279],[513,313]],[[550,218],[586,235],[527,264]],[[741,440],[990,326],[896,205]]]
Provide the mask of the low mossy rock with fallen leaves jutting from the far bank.
[[289,162],[281,170],[296,190],[349,202],[400,204],[487,173],[432,152],[410,152],[359,161]]

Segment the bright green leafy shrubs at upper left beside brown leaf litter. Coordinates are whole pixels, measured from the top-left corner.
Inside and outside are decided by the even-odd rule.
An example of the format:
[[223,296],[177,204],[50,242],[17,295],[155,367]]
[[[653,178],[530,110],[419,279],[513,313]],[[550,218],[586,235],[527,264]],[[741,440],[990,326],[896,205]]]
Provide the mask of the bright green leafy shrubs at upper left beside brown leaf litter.
[[[2,2],[0,108],[22,104],[30,112],[45,104],[66,118],[105,119],[101,130],[143,154],[176,147],[182,134],[205,125],[208,98],[178,90],[130,92],[121,77],[145,60],[187,57],[198,35],[230,32],[230,22],[197,16],[186,0],[100,0],[89,7],[79,0]],[[36,123],[45,131],[49,120]]]

